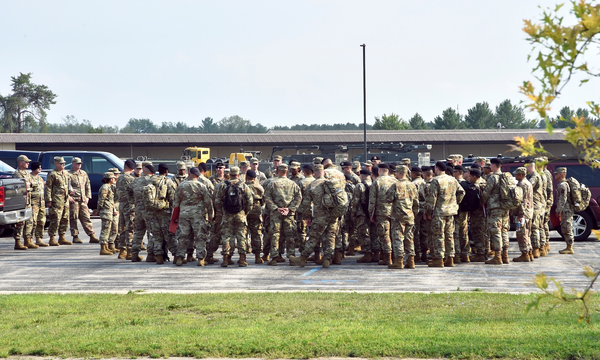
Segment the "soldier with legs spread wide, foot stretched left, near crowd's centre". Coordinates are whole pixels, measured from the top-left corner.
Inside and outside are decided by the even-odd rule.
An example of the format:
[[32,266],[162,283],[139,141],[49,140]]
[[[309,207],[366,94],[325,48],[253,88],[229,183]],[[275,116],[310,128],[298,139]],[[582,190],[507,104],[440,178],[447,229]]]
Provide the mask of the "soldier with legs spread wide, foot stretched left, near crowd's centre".
[[[313,169],[315,179],[308,184],[302,203],[298,208],[298,211],[302,212],[302,214],[310,214],[310,218],[307,219],[307,225],[310,226],[308,240],[304,245],[301,256],[290,256],[290,263],[295,263],[304,268],[308,256],[313,253],[314,247],[321,241],[323,248],[323,268],[329,268],[329,264],[334,256],[338,219],[329,214],[329,210],[323,206],[321,201],[324,195],[323,182],[326,180],[325,176],[323,176],[325,175],[323,165],[314,164]],[[311,205],[313,206],[312,212]]]

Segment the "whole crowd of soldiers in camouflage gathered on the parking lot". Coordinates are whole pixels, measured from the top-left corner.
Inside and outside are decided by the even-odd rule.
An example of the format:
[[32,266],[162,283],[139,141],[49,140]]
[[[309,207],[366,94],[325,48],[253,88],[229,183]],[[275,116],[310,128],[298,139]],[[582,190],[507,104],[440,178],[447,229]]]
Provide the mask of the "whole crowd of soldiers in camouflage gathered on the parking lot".
[[[344,161],[340,171],[330,158],[316,157],[313,164],[302,165],[294,159],[283,163],[276,155],[265,173],[251,158],[230,168],[216,163],[208,178],[205,163],[191,168],[179,163],[172,179],[166,164],[155,169],[149,162],[127,160],[124,171],[113,168],[104,173],[95,210],[102,220],[99,239],[87,206],[91,187],[79,158],[73,158],[73,169],[67,172],[64,159],[55,157],[45,191],[38,175],[41,164],[25,155],[17,160],[19,169],[13,176],[26,179],[28,207],[34,216],[17,228],[15,249],[82,243],[79,220],[89,242],[100,244],[100,255],[118,253],[119,259],[140,262],[140,251],[147,250],[146,262],[158,265],[170,261],[169,252],[177,266],[194,261],[198,266],[213,264],[219,260],[215,257],[219,246],[223,267],[234,264],[236,247],[238,266],[248,266],[248,253],[254,254],[255,263],[277,266],[287,257],[290,266],[314,262],[324,268],[341,265],[341,259],[355,253],[362,254],[356,262],[390,269],[413,269],[419,262],[430,267],[509,263],[509,211],[500,196],[499,158],[480,157],[463,167],[463,157],[451,155],[433,167],[411,167],[407,158],[387,164],[374,156],[365,163]],[[523,189],[523,201],[512,211],[520,224],[517,240],[522,253],[515,262],[531,262],[550,250],[553,188],[545,163],[543,157],[527,159],[514,174],[515,185]],[[572,254],[574,210],[565,177],[565,168],[554,172],[559,181],[557,214],[567,244],[560,253]],[[465,196],[466,188],[476,189],[478,204],[461,211],[463,198],[473,199]],[[341,202],[348,204],[341,214],[326,201],[336,194],[347,197]],[[333,204],[340,208],[339,200]],[[46,206],[48,244],[42,241]],[[67,224],[73,241],[65,238]],[[143,243],[146,233],[148,247]]]

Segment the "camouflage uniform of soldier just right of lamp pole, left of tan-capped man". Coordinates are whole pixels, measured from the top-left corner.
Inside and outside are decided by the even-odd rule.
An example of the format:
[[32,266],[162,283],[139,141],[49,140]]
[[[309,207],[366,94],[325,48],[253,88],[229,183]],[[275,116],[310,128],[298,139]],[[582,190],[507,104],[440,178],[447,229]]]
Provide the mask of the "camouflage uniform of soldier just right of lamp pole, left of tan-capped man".
[[[373,214],[375,209],[375,231],[376,237],[371,234],[371,253],[378,253],[380,250],[384,254],[392,252],[392,242],[389,238],[389,215],[392,205],[385,200],[385,193],[398,180],[393,176],[382,175],[373,181],[369,192],[369,214]],[[377,239],[377,241],[373,241]]]

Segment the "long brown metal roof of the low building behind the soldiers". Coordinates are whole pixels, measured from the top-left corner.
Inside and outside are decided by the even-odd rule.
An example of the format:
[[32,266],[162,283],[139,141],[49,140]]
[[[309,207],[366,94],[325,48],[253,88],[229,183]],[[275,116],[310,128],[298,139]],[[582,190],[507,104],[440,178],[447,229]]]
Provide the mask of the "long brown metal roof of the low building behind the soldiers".
[[[565,142],[564,129],[556,129],[550,136],[543,129],[524,130],[367,130],[370,143],[442,143],[442,142],[514,142],[515,136],[527,137],[532,134],[541,142]],[[363,142],[362,131],[272,131],[267,134],[0,134],[0,143],[30,144],[120,144],[164,146],[172,144],[254,144],[254,145],[296,145],[296,144],[346,144]]]

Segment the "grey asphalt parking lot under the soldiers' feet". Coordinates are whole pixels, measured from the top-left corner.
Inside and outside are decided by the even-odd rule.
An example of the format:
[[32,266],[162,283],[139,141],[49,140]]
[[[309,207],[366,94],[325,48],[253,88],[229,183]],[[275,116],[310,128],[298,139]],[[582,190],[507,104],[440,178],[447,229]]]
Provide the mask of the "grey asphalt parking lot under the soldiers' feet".
[[[92,219],[100,233],[100,220]],[[69,232],[67,232],[69,235]],[[520,255],[514,232],[509,256]],[[70,239],[70,236],[67,237]],[[278,290],[356,290],[356,291],[455,291],[481,289],[494,292],[536,291],[529,283],[539,272],[563,281],[566,288],[580,289],[586,284],[581,275],[584,265],[600,260],[600,241],[588,239],[575,243],[575,255],[560,255],[565,242],[551,233],[550,254],[532,263],[484,265],[462,263],[454,268],[428,268],[417,263],[416,269],[391,270],[376,263],[356,263],[360,256],[346,257],[342,265],[329,269],[307,264],[305,268],[280,263],[254,264],[248,257],[247,268],[217,264],[196,266],[188,263],[133,263],[114,256],[100,256],[98,244],[61,245],[30,250],[13,250],[11,235],[0,238],[0,292],[102,292],[148,290],[155,292],[219,292]],[[44,238],[47,242],[47,236]],[[145,251],[142,251],[145,256]],[[233,257],[237,261],[238,256]]]

